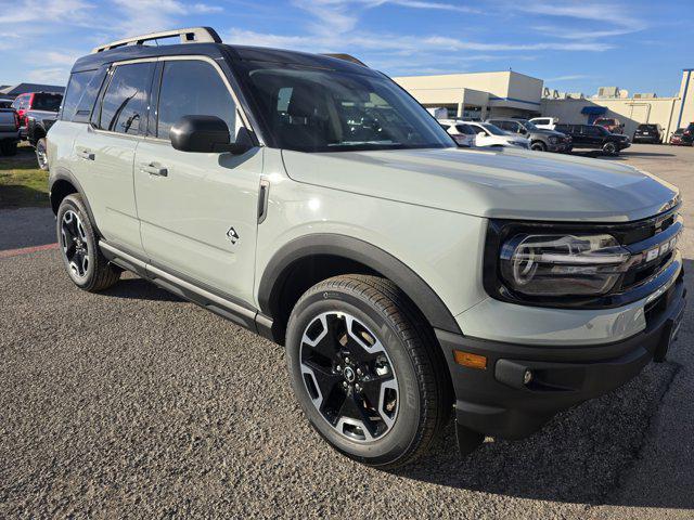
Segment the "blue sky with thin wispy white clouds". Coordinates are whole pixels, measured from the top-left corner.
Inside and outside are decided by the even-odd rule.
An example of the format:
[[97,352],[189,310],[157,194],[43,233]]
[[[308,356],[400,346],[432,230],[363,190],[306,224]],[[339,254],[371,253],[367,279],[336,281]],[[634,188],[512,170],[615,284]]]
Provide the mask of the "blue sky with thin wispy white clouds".
[[65,84],[98,44],[192,26],[389,76],[512,68],[586,94],[673,95],[694,68],[694,0],[0,0],[0,84]]

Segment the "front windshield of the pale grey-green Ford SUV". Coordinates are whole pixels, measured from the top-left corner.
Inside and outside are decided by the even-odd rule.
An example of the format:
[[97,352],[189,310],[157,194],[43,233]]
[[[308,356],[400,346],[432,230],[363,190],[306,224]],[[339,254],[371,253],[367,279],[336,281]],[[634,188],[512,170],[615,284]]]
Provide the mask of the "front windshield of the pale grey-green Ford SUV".
[[400,87],[375,75],[239,64],[274,146],[299,152],[442,148],[452,138]]

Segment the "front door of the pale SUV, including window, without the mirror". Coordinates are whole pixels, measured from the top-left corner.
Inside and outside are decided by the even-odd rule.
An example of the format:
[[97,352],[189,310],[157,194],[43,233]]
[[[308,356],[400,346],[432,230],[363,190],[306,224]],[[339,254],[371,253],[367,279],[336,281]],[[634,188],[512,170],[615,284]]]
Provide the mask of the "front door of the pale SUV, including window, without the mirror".
[[187,115],[241,126],[228,81],[211,61],[160,63],[151,138],[138,146],[136,196],[150,262],[170,274],[253,302],[261,148],[243,155],[174,150],[169,130]]

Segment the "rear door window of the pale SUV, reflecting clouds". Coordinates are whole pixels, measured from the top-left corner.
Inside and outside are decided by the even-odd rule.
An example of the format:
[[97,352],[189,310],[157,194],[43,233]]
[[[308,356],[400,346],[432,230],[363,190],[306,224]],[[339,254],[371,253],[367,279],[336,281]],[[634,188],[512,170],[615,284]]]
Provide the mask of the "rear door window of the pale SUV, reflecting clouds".
[[153,68],[153,63],[132,63],[114,69],[101,105],[99,128],[131,135],[140,133],[140,125],[147,115]]

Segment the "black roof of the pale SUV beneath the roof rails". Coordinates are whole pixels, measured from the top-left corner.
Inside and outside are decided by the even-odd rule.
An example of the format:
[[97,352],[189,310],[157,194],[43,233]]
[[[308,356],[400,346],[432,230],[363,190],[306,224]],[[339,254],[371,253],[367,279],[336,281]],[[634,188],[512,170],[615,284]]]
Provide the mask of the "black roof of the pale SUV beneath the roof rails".
[[214,58],[231,61],[257,61],[281,64],[292,64],[331,70],[344,70],[363,75],[378,73],[346,60],[330,57],[322,54],[269,49],[262,47],[228,46],[224,43],[183,43],[174,46],[124,46],[108,51],[88,54],[77,60],[73,73],[91,70],[104,64],[142,57],[158,57],[170,55],[205,55]]

